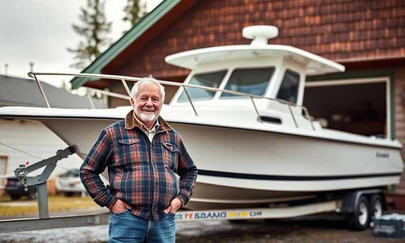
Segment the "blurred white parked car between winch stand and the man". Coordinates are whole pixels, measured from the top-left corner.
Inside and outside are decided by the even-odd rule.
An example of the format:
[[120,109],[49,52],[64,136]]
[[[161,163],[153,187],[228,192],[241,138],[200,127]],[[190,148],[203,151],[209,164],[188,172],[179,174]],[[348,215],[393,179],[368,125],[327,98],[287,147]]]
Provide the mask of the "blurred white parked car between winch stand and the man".
[[[107,179],[101,177],[104,185],[108,185]],[[71,169],[60,177],[56,178],[56,189],[63,192],[65,196],[72,196],[73,194],[87,193],[82,181],[80,181],[79,170]]]

